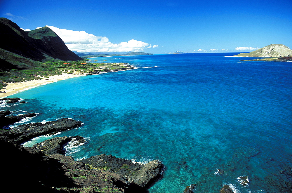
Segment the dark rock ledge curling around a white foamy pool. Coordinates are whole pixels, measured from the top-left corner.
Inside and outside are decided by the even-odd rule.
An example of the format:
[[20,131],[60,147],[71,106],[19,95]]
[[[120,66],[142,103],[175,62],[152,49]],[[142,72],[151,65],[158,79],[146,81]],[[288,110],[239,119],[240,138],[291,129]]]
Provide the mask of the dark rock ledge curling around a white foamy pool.
[[41,143],[33,145],[33,148],[37,152],[40,151],[45,155],[64,154],[66,150],[64,146],[67,145],[67,143],[70,141],[72,142],[72,146],[79,145],[80,143],[85,143],[84,138],[79,135],[73,137],[64,136],[47,139]]

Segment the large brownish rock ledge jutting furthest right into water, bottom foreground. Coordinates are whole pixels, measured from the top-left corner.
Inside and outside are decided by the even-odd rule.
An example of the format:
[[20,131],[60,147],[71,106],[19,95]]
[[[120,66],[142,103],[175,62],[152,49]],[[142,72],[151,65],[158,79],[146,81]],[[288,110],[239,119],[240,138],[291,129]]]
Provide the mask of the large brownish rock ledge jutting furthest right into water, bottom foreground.
[[83,163],[92,168],[104,169],[121,175],[121,181],[135,184],[140,187],[147,187],[153,180],[157,179],[163,170],[163,164],[158,161],[150,161],[147,164],[133,164],[130,160],[116,158],[112,155],[101,154],[82,159]]

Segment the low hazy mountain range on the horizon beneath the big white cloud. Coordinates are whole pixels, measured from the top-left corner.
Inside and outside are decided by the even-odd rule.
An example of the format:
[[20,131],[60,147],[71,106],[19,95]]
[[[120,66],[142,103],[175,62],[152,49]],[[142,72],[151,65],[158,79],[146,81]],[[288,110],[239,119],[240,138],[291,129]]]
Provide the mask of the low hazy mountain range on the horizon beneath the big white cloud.
[[102,57],[102,56],[121,56],[121,55],[152,55],[150,53],[145,52],[96,52],[96,53],[78,53],[77,51],[73,51],[78,56],[82,58],[93,58],[93,57]]

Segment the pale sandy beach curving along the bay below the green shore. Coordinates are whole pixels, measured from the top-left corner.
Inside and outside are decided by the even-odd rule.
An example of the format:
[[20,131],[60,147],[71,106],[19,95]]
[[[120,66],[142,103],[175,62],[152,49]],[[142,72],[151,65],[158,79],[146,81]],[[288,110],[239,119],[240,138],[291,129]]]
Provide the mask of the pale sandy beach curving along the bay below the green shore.
[[0,98],[4,98],[10,95],[13,95],[15,93],[34,88],[40,85],[49,84],[52,82],[57,82],[60,80],[65,80],[69,78],[74,78],[77,76],[82,76],[78,74],[62,74],[62,75],[56,75],[56,76],[49,76],[49,77],[41,77],[43,79],[41,80],[30,80],[25,82],[13,82],[13,83],[7,83],[8,86],[3,88],[1,92],[5,91],[5,93],[0,93]]

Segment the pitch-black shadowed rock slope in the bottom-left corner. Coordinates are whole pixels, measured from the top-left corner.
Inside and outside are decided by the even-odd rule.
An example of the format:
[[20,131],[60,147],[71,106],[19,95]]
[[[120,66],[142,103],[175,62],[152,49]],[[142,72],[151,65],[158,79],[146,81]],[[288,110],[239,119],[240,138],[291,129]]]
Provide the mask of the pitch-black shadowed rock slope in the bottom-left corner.
[[[1,192],[57,192],[51,187],[72,186],[73,180],[65,175],[58,160],[2,140],[0,145],[5,158],[0,159],[1,175],[5,176]],[[11,185],[12,179],[17,186]]]

